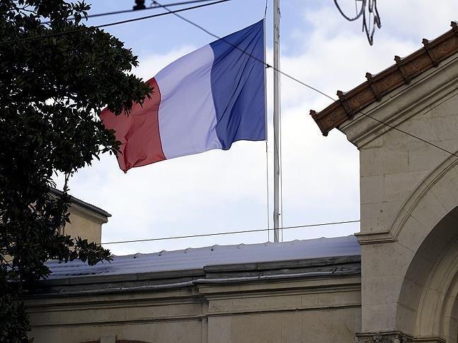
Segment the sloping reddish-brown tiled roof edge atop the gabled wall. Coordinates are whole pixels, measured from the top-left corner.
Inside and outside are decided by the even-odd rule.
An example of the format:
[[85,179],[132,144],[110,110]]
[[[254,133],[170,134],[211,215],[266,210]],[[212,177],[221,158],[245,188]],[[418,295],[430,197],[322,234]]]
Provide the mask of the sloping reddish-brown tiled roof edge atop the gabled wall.
[[366,73],[367,81],[351,91],[338,91],[339,100],[321,112],[310,111],[324,136],[334,127],[350,120],[358,111],[382,100],[384,95],[396,88],[408,84],[412,79],[458,52],[458,23],[452,21],[452,30],[447,31],[435,40],[423,39],[423,47],[407,57],[395,56],[396,64],[377,75]]

